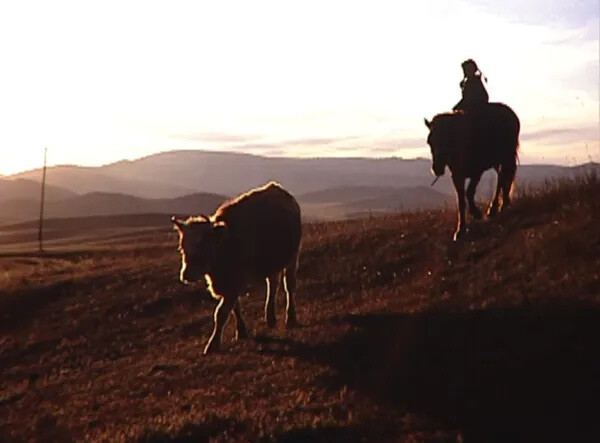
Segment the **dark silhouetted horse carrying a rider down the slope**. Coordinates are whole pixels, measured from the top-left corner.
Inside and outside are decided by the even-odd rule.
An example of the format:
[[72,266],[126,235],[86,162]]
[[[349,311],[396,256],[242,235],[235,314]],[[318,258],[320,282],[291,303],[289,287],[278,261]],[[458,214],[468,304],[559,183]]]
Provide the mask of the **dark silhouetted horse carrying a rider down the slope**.
[[475,188],[481,175],[494,168],[498,174],[496,194],[488,216],[498,213],[500,191],[502,209],[510,204],[519,147],[519,118],[502,103],[488,103],[477,111],[450,112],[436,115],[429,128],[427,143],[431,147],[432,171],[436,177],[444,175],[446,166],[452,173],[452,182],[458,197],[458,226],[454,239],[466,232],[465,179],[469,178],[467,201],[469,212],[475,219],[482,217],[474,202]]

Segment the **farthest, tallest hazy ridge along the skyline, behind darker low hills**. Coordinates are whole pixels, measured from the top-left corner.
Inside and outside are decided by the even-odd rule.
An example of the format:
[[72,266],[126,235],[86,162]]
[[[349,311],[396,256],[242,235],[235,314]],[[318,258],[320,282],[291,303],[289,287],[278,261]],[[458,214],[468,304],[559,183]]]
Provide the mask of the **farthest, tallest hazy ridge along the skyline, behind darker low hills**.
[[[171,198],[196,192],[236,195],[277,180],[299,195],[341,187],[403,188],[431,183],[429,159],[287,158],[208,151],[170,151],[96,168],[57,166],[48,169],[48,184],[78,194],[113,192],[144,198]],[[518,183],[573,177],[599,170],[597,163],[577,167],[521,165]],[[13,178],[39,180],[39,170]],[[450,180],[437,188],[451,194]]]

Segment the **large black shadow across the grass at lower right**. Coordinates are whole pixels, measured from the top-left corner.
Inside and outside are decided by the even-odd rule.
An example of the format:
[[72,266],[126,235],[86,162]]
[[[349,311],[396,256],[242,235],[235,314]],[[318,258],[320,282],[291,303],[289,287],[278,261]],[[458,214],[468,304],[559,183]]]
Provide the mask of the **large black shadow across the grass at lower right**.
[[[600,310],[577,306],[351,315],[342,341],[265,352],[327,365],[381,405],[467,441],[600,441]],[[273,340],[276,342],[277,340]],[[293,440],[293,439],[292,439]],[[318,441],[319,439],[316,438]]]

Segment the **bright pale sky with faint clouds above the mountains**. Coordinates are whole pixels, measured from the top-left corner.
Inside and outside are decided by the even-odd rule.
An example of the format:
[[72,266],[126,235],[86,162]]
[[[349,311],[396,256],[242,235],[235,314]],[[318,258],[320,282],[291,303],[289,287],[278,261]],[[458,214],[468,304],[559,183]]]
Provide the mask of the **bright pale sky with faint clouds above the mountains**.
[[521,162],[600,161],[600,0],[0,3],[0,174],[173,149],[429,157],[477,61]]

